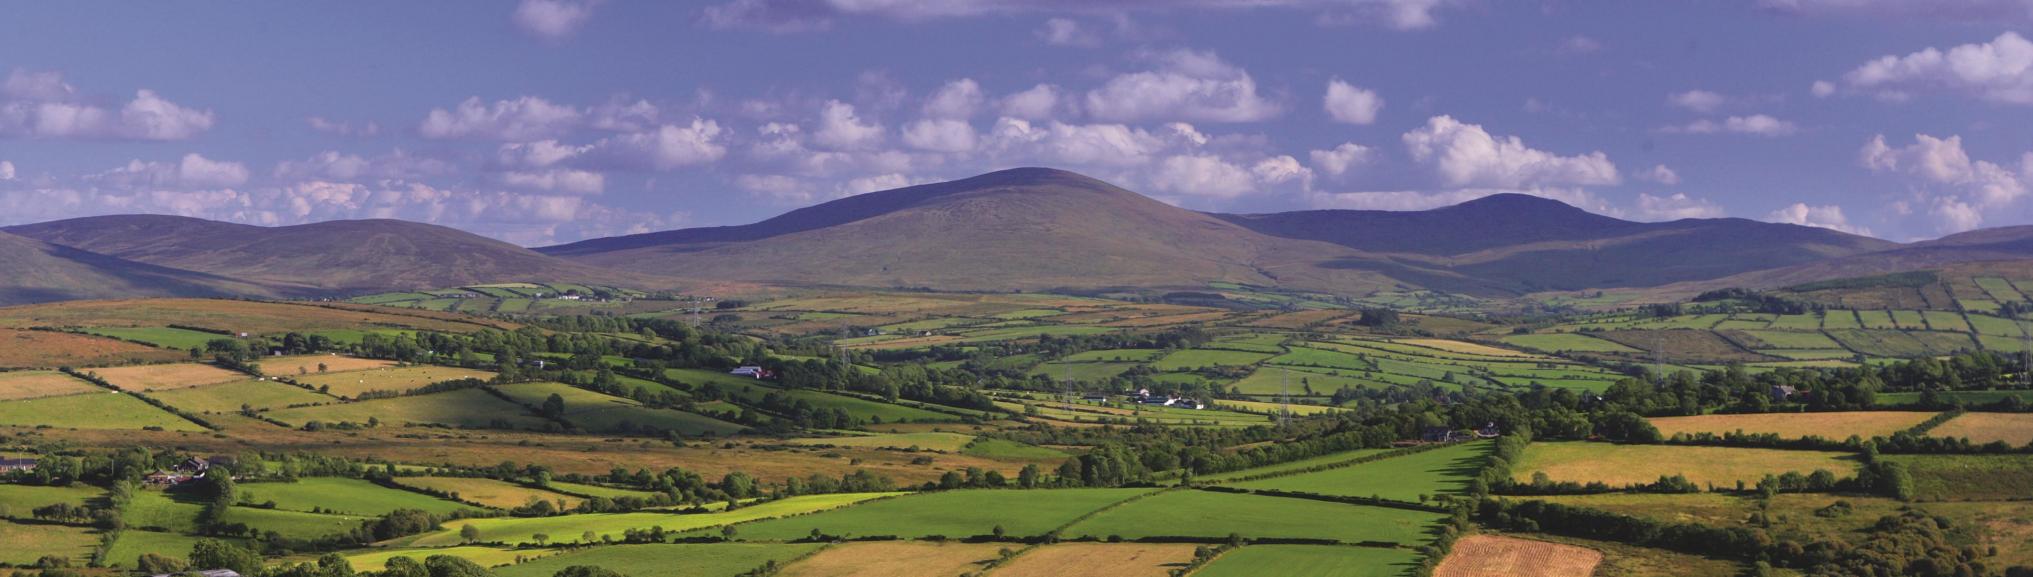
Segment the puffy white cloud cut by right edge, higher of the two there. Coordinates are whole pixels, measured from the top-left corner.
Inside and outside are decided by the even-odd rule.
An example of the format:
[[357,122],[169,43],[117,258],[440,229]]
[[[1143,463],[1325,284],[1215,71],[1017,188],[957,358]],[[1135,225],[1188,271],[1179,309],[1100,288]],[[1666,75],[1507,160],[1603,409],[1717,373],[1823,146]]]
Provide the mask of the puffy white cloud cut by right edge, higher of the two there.
[[2003,33],[1990,43],[1887,55],[1842,79],[1889,100],[1905,100],[1913,89],[1948,89],[1988,102],[2033,104],[2033,43]]

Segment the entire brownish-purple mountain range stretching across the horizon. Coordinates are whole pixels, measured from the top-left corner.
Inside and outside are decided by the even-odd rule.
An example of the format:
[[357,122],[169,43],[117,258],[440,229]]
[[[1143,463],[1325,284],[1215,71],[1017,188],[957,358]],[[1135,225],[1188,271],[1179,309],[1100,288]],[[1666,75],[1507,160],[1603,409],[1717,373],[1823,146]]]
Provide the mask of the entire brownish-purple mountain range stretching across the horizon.
[[1427,211],[1204,213],[1055,169],[876,191],[746,226],[520,248],[451,228],[260,228],[173,215],[0,230],[0,303],[102,297],[342,297],[508,280],[943,291],[1199,288],[1332,295],[1783,286],[2033,258],[2033,228],[1895,244],[1752,219],[1626,221],[1531,197]]

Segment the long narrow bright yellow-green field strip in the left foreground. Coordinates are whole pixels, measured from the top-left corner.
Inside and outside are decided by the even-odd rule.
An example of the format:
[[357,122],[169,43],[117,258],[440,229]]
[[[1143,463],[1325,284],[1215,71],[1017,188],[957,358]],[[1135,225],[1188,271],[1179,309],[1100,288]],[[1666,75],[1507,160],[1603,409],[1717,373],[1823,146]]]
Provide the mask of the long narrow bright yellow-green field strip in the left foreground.
[[549,534],[557,542],[575,542],[588,532],[592,532],[596,540],[600,536],[622,538],[622,532],[630,528],[651,528],[651,526],[663,526],[665,530],[710,528],[730,522],[819,512],[882,496],[895,496],[895,494],[801,496],[801,498],[787,498],[787,500],[744,506],[732,512],[703,512],[703,514],[620,512],[620,514],[565,514],[565,516],[537,516],[537,518],[474,518],[474,520],[445,522],[445,530],[421,534],[413,538],[409,544],[413,547],[457,544],[459,528],[468,524],[480,530],[482,540],[498,540],[510,544],[535,542],[533,534]]

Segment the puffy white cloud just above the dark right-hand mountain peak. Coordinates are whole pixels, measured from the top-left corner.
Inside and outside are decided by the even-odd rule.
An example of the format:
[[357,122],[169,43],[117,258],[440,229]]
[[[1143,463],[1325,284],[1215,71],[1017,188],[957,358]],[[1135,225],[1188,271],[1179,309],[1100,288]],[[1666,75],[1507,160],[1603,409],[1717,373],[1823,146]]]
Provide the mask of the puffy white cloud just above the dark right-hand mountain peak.
[[1517,136],[1496,138],[1476,124],[1433,116],[1405,132],[1413,161],[1431,165],[1450,187],[1616,185],[1616,165],[1602,152],[1559,156],[1525,146]]

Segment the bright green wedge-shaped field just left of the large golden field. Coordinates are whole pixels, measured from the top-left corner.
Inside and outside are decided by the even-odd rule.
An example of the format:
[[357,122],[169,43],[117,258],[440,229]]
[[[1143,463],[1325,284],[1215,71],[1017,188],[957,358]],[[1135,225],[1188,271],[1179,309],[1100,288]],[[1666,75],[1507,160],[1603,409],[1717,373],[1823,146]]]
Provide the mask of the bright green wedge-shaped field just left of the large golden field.
[[1279,490],[1346,498],[1387,498],[1399,502],[1421,502],[1425,496],[1462,494],[1468,479],[1474,479],[1482,463],[1488,461],[1490,443],[1462,443],[1454,447],[1370,461],[1352,467],[1338,467],[1287,477],[1269,477],[1234,484],[1244,490]]

